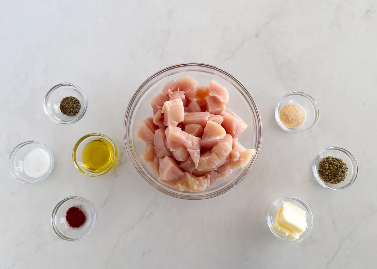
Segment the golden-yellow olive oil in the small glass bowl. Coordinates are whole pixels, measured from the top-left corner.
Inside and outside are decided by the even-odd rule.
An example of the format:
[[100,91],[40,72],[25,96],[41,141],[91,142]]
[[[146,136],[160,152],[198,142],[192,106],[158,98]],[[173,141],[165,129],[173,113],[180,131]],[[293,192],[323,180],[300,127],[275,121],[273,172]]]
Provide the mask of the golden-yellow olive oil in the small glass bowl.
[[101,172],[112,164],[114,150],[110,142],[104,139],[94,139],[84,146],[81,158],[88,170]]

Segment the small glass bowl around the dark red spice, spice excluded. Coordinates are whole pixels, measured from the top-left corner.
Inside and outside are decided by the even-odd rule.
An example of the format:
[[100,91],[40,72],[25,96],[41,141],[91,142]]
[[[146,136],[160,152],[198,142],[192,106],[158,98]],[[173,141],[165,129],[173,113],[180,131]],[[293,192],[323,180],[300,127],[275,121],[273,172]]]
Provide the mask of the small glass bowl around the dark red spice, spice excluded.
[[[83,226],[72,228],[66,220],[66,212],[72,206],[78,206],[84,212],[86,221]],[[54,232],[67,241],[79,241],[88,236],[93,230],[97,215],[95,208],[88,200],[70,196],[61,200],[52,211],[51,225]]]

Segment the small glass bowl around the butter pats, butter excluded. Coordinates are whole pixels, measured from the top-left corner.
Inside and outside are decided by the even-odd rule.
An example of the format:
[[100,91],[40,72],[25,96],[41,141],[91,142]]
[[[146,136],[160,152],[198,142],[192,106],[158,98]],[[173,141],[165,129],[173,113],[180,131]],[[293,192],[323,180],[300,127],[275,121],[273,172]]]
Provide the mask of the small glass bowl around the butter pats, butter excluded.
[[[283,202],[290,202],[291,204],[298,206],[299,208],[301,208],[302,210],[306,212],[308,228],[302,234],[300,234],[299,239],[289,240],[284,235],[277,234],[272,229],[272,224],[274,223],[276,212],[283,206]],[[305,237],[307,237],[308,234],[310,233],[311,228],[313,227],[313,214],[311,213],[309,206],[306,203],[304,203],[302,200],[297,199],[295,197],[284,197],[273,202],[270,208],[268,208],[267,225],[268,225],[268,228],[270,228],[270,231],[273,233],[273,235],[275,235],[277,239],[285,241],[285,242],[299,242],[299,241],[302,241]]]

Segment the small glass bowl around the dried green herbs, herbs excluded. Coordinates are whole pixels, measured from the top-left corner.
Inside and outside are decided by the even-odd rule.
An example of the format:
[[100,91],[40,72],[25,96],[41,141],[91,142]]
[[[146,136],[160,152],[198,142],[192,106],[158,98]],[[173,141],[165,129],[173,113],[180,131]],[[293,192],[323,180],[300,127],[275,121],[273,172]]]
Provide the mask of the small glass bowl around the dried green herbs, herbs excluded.
[[[334,157],[340,158],[347,164],[347,167],[348,167],[347,176],[342,182],[339,182],[337,184],[326,183],[319,176],[318,165],[323,160],[323,158],[327,156],[334,156]],[[356,162],[355,157],[348,150],[345,150],[344,148],[340,148],[340,147],[329,147],[329,148],[325,148],[318,154],[318,156],[314,160],[312,171],[313,171],[314,178],[317,180],[319,185],[329,190],[339,191],[339,190],[345,190],[346,188],[351,186],[352,183],[355,182],[358,168],[357,168],[357,162]]]

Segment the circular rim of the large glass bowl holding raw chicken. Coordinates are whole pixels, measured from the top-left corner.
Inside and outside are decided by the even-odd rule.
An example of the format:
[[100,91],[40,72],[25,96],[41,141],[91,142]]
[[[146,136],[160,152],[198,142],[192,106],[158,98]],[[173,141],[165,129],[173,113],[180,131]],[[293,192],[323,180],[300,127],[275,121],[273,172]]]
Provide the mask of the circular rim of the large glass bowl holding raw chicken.
[[[210,193],[210,194],[202,194],[202,195],[196,195],[196,196],[189,196],[187,195],[186,193],[173,193],[167,189],[164,189],[162,188],[161,186],[157,185],[153,180],[149,179],[149,177],[147,176],[144,176],[143,174],[140,173],[139,169],[138,169],[138,164],[136,162],[136,160],[134,160],[134,156],[133,156],[133,153],[135,152],[134,148],[133,148],[133,144],[132,144],[132,139],[127,135],[126,133],[126,130],[127,130],[127,123],[128,125],[131,124],[131,122],[128,120],[130,117],[130,113],[132,113],[131,111],[131,106],[133,104],[133,102],[135,101],[135,98],[136,96],[139,94],[139,92],[141,91],[141,89],[143,89],[143,87],[149,82],[151,81],[152,79],[156,78],[158,75],[161,75],[162,73],[164,72],[167,72],[169,70],[172,70],[172,69],[176,69],[176,68],[179,68],[179,67],[205,67],[205,68],[208,68],[208,69],[212,69],[212,70],[215,70],[217,72],[220,72],[226,76],[228,76],[230,79],[233,79],[233,81],[235,83],[237,83],[239,85],[239,87],[243,90],[243,93],[245,95],[248,96],[249,98],[249,101],[251,102],[251,104],[253,105],[254,109],[255,109],[255,118],[256,118],[256,124],[257,124],[257,127],[259,127],[259,131],[260,131],[260,135],[259,137],[257,137],[257,143],[256,143],[256,147],[255,147],[255,156],[253,157],[253,159],[251,160],[250,164],[248,164],[248,168],[245,169],[240,175],[239,177],[234,180],[230,185],[228,185],[227,187],[223,188],[223,189],[220,189],[218,191],[215,191],[213,193]],[[138,174],[143,177],[143,179],[149,183],[149,185],[153,186],[154,188],[156,188],[157,190],[161,191],[162,193],[165,193],[165,194],[168,194],[172,197],[176,197],[176,198],[180,198],[180,199],[187,199],[187,200],[201,200],[201,199],[209,199],[209,198],[212,198],[212,197],[216,197],[220,194],[223,194],[223,193],[226,193],[227,191],[231,190],[232,188],[234,188],[236,185],[238,185],[239,182],[241,182],[245,177],[246,175],[250,172],[251,168],[253,167],[256,159],[257,159],[257,156],[259,154],[259,151],[261,150],[261,143],[262,143],[262,134],[263,134],[263,131],[262,131],[262,120],[261,120],[261,115],[259,113],[259,109],[253,99],[253,97],[251,96],[250,92],[247,90],[247,88],[244,86],[244,84],[241,83],[241,81],[239,81],[237,78],[235,78],[233,75],[231,75],[230,73],[226,72],[225,70],[223,69],[220,69],[216,66],[212,66],[210,64],[204,64],[204,63],[181,63],[181,64],[175,64],[175,65],[172,65],[172,66],[168,66],[168,67],[165,67],[155,73],[153,73],[151,76],[149,76],[147,79],[145,79],[143,81],[143,83],[140,84],[140,86],[136,89],[135,93],[133,93],[128,105],[127,105],[127,109],[126,109],[126,113],[124,115],[124,121],[123,121],[123,137],[124,137],[124,143],[125,143],[125,146],[126,146],[126,151],[127,151],[127,154],[129,156],[129,159],[131,160],[133,166],[135,167],[135,169],[138,171]],[[136,164],[135,164],[136,162]]]

